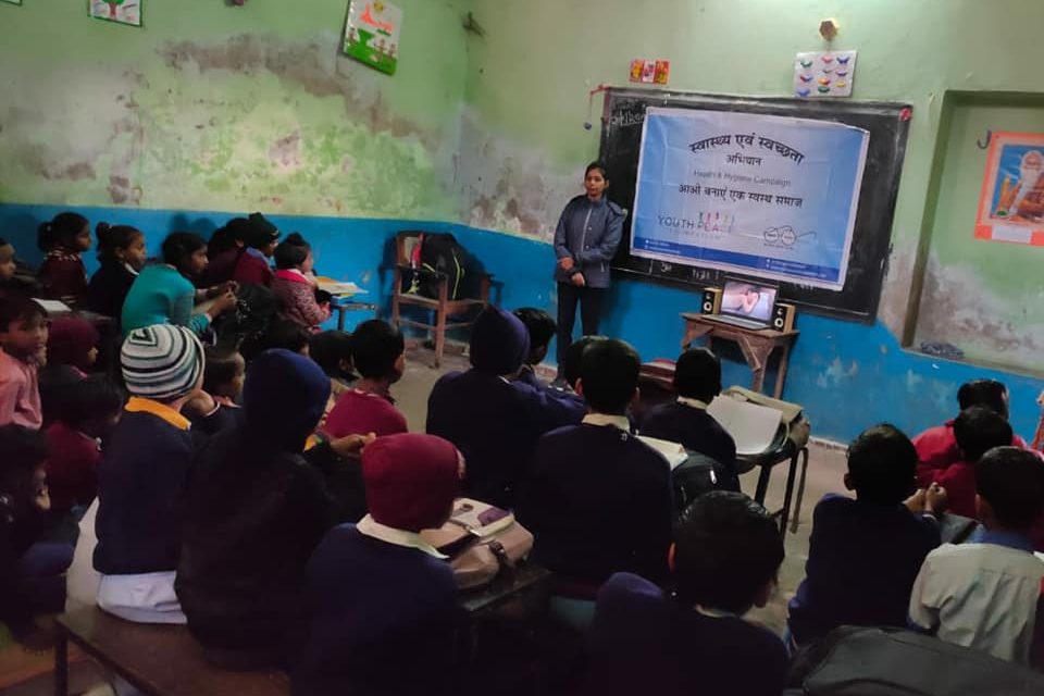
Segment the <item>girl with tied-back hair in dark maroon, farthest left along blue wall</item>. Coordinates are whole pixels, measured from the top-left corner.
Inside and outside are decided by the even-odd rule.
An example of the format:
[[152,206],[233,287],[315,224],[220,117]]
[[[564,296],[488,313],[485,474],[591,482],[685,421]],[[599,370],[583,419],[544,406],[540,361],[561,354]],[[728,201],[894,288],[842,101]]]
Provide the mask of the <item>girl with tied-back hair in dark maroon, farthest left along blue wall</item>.
[[59,213],[39,226],[36,244],[47,254],[36,274],[40,294],[78,307],[87,298],[83,253],[90,249],[90,223],[79,213]]

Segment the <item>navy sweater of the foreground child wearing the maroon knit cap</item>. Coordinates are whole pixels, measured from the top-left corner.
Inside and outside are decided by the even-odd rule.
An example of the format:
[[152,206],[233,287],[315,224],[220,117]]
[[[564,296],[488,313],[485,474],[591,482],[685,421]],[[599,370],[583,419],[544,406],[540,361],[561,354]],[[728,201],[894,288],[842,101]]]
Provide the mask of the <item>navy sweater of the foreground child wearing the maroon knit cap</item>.
[[306,601],[295,696],[460,692],[463,611],[446,561],[343,524],[309,561]]

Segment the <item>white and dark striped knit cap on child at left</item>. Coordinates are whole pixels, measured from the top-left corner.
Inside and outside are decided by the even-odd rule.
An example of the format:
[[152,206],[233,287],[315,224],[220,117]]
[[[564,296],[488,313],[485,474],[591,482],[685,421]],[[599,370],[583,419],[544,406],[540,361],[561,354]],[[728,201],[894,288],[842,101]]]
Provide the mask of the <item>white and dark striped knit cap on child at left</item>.
[[196,388],[203,372],[203,347],[184,326],[135,328],[123,341],[120,366],[134,396],[173,401]]

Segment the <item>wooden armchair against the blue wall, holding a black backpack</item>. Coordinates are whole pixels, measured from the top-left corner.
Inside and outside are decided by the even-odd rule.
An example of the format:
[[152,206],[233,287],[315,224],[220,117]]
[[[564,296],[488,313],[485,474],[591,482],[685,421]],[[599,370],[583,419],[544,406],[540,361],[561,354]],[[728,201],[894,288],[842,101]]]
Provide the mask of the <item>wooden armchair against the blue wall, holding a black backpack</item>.
[[[435,341],[435,362],[438,368],[446,349],[446,332],[455,328],[464,328],[474,323],[474,316],[489,303],[489,287],[493,276],[482,273],[478,276],[477,299],[450,299],[449,278],[438,271],[414,269],[410,262],[414,248],[421,241],[422,232],[400,232],[395,237],[395,284],[391,295],[391,324],[398,328],[402,325],[424,328],[433,335]],[[410,279],[413,274],[434,274],[438,278],[438,297],[431,298],[403,289],[403,278]],[[420,307],[434,312],[435,323],[426,323],[414,319],[402,319],[402,306]],[[467,320],[463,316],[469,315]],[[450,319],[458,321],[450,322]]]

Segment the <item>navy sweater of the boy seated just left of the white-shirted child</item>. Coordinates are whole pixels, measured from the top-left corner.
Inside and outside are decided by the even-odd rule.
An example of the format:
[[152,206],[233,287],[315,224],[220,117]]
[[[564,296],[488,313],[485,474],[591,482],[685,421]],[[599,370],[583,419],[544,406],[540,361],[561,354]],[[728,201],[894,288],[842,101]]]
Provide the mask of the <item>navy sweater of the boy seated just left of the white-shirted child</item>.
[[913,581],[939,545],[939,524],[902,504],[824,496],[791,600],[794,638],[807,643],[842,624],[905,626]]

